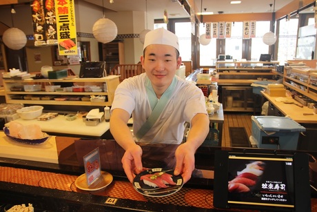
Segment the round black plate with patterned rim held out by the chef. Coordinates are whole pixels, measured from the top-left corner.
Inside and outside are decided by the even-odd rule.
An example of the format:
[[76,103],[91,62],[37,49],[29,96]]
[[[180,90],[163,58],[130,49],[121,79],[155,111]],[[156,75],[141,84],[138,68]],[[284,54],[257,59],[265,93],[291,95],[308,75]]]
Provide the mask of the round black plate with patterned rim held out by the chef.
[[[163,175],[164,173],[167,174],[167,176],[170,176],[170,180],[174,182],[174,184],[166,184],[165,188],[161,188],[159,186],[150,186],[145,184],[143,177],[145,175],[151,176],[151,175]],[[183,177],[181,175],[174,175],[174,170],[167,170],[164,171],[163,168],[151,168],[146,171],[143,171],[139,173],[139,175],[136,175],[133,180],[133,187],[136,191],[139,193],[149,196],[149,197],[164,197],[167,195],[171,195],[173,193],[176,193],[179,191],[183,186]],[[154,180],[155,182],[155,180]]]

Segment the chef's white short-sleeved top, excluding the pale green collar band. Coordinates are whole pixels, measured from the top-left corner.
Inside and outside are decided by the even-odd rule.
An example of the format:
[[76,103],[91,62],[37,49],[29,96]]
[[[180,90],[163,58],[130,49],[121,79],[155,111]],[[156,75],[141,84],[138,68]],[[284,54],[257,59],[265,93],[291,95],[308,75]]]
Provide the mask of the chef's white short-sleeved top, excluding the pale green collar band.
[[[152,113],[145,87],[146,74],[125,79],[116,88],[111,110],[121,108],[133,117],[133,131],[138,132]],[[200,88],[177,77],[177,84],[163,112],[138,142],[180,144],[183,141],[185,122],[191,122],[194,115],[207,115],[205,97]],[[128,104],[127,104],[128,102]]]

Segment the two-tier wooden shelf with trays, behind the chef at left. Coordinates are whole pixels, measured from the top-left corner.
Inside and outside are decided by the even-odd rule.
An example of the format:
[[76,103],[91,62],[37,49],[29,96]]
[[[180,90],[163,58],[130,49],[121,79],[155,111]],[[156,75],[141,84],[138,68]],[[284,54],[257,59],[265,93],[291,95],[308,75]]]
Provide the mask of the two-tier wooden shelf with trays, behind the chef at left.
[[[114,91],[119,85],[119,75],[110,75],[108,77],[102,78],[74,78],[70,77],[69,79],[24,79],[24,80],[14,80],[14,79],[4,79],[4,95],[6,97],[7,103],[15,104],[38,104],[38,105],[72,105],[72,106],[111,106],[114,99]],[[43,88],[39,91],[12,91],[10,88],[13,86],[23,86],[23,85],[32,85],[32,84],[41,84],[44,85],[50,84],[60,84],[60,83],[72,83],[72,84],[89,84],[89,85],[101,85],[107,84],[106,92],[54,92],[54,91],[43,91]],[[83,96],[105,96],[105,102],[86,102],[80,100],[70,101],[60,101],[60,100],[33,100],[33,99],[24,99],[26,95],[32,95],[32,97],[43,97],[43,96],[54,96],[54,97],[78,97],[79,99]],[[20,99],[16,99],[19,97]]]

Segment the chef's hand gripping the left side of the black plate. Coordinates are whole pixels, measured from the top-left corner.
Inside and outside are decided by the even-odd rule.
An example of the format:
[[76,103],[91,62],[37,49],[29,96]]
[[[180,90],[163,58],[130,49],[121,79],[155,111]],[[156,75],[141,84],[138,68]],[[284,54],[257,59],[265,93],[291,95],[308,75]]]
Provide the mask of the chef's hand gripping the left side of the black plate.
[[127,148],[121,159],[123,169],[125,171],[125,174],[127,175],[127,179],[129,179],[130,182],[133,182],[136,174],[139,174],[141,173],[141,171],[143,171],[141,155],[141,146],[134,144],[133,146]]

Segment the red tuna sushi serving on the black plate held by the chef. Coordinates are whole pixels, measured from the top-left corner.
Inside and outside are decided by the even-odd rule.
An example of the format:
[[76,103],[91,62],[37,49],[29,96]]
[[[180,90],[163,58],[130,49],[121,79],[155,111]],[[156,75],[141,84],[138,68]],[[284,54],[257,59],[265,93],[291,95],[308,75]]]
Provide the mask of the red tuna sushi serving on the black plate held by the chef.
[[172,175],[163,171],[154,174],[143,175],[140,179],[143,180],[144,184],[154,188],[167,188],[168,184],[176,185],[172,179]]

